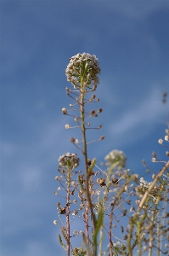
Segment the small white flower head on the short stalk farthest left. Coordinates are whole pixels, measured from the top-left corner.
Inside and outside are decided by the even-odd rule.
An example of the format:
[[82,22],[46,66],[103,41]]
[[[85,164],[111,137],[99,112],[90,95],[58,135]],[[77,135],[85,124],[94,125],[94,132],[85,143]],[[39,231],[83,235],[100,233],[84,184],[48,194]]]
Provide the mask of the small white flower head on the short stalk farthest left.
[[65,153],[59,156],[59,166],[70,166],[76,168],[79,166],[80,159],[76,154]]

